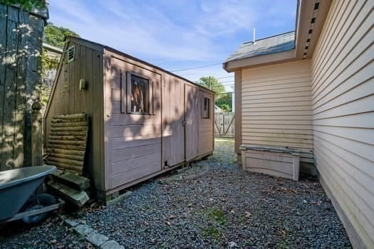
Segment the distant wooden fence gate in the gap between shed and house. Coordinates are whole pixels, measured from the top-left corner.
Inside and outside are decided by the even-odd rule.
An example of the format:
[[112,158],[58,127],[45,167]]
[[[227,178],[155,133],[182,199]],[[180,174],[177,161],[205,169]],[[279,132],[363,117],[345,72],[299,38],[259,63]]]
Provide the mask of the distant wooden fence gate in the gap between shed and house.
[[234,137],[234,112],[214,113],[214,136]]

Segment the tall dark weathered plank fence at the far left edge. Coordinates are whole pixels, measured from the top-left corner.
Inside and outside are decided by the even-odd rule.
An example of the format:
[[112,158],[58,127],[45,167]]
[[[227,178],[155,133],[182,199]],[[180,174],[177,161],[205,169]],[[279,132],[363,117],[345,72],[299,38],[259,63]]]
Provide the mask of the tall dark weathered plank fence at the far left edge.
[[0,171],[33,164],[31,105],[40,95],[43,28],[41,16],[0,4]]

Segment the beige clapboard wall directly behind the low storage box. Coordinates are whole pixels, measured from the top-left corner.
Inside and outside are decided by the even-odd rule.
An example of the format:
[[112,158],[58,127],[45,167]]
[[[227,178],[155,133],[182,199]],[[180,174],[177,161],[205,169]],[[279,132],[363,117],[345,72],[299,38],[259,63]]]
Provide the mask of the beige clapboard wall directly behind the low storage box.
[[311,60],[241,72],[241,142],[301,149],[313,163]]

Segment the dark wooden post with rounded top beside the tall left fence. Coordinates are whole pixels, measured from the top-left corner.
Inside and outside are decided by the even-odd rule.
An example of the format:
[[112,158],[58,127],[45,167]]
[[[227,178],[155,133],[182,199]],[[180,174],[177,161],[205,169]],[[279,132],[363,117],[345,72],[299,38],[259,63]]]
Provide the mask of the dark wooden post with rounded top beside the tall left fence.
[[31,166],[43,164],[43,126],[41,102],[33,102],[31,113]]

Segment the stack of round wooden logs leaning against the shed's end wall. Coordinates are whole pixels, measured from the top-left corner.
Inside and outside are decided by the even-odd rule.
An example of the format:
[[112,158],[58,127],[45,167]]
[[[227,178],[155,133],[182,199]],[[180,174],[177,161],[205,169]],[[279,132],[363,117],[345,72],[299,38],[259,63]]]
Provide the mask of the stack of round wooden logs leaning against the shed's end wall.
[[87,134],[88,117],[85,113],[54,116],[46,163],[82,174]]

